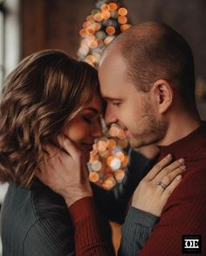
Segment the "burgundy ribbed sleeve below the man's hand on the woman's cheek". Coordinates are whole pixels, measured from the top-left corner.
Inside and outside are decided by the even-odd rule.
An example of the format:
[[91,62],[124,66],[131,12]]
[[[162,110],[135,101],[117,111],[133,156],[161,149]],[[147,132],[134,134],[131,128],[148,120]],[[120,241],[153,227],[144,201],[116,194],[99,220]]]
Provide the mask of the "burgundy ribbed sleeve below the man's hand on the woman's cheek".
[[74,225],[77,256],[113,256],[112,240],[107,223],[100,217],[93,197],[85,197],[69,208]]

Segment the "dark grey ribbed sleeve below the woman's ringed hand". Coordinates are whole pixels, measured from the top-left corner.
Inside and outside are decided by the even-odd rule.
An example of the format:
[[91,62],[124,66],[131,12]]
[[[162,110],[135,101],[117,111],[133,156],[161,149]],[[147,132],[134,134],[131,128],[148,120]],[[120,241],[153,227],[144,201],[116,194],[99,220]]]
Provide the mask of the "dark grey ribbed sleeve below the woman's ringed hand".
[[131,206],[125,224],[122,226],[118,255],[139,255],[143,245],[148,240],[148,236],[153,231],[154,224],[158,221],[159,217]]

